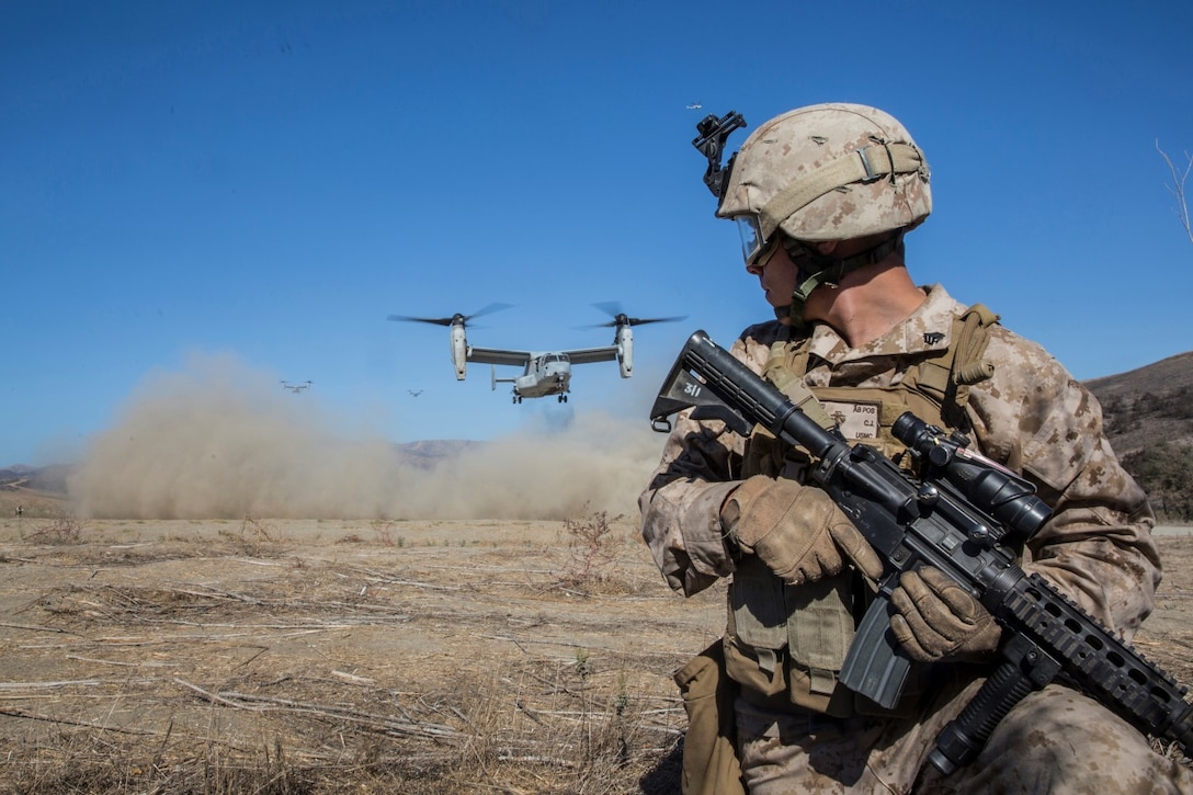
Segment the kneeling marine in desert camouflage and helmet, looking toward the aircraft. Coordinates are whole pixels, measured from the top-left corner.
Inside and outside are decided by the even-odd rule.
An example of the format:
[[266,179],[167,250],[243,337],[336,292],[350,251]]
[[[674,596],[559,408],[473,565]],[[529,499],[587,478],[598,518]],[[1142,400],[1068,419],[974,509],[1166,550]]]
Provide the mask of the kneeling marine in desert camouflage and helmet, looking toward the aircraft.
[[[810,389],[851,442],[895,461],[903,411],[963,431],[1052,510],[1024,569],[1130,639],[1161,579],[1146,497],[1061,363],[987,307],[909,275],[905,236],[932,193],[907,129],[876,107],[821,104],[761,125],[727,167],[706,154],[717,216],[738,227],[774,313],[731,353],[779,389]],[[1024,698],[971,764],[947,776],[927,764],[991,671],[1001,630],[940,572],[908,572],[890,627],[916,661],[913,686],[892,708],[846,688],[841,664],[882,565],[808,463],[765,432],[684,413],[639,498],[672,588],[729,579],[723,637],[676,673],[685,793],[1193,793],[1177,760],[1063,684]]]

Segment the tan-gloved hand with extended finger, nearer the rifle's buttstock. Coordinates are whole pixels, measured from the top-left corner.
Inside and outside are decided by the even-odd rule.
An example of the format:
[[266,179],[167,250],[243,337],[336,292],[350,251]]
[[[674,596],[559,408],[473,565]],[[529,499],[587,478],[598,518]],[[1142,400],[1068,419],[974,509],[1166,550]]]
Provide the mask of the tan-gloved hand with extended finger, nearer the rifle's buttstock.
[[866,577],[883,573],[877,553],[829,495],[793,480],[746,480],[725,500],[721,523],[743,551],[791,585],[840,574],[842,553]]

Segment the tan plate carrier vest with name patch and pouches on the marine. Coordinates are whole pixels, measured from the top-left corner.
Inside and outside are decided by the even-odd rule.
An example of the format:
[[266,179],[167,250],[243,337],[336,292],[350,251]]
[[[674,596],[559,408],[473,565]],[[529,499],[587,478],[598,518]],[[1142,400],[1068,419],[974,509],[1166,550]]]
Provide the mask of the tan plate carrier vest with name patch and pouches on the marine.
[[[994,365],[982,357],[989,344],[989,327],[997,320],[984,306],[973,304],[953,320],[948,347],[911,355],[915,360],[895,386],[812,387],[811,392],[851,443],[873,444],[898,466],[910,468],[910,456],[892,435],[892,424],[910,411],[932,425],[969,432],[969,387],[994,374]],[[810,358],[808,347],[809,339],[774,343],[764,370],[764,377],[797,402],[809,389],[803,382]],[[857,419],[851,420],[847,412],[857,412]],[[767,475],[804,481],[809,463],[806,450],[755,427],[746,448],[742,479]],[[736,563],[729,586],[725,657],[730,676],[746,685],[747,696],[753,691],[766,702],[783,703],[787,700],[775,700],[786,691],[799,709],[840,717],[890,714],[837,684],[857,623],[870,604],[872,585],[851,571],[793,587],[753,555]],[[913,667],[904,698],[894,713],[905,714],[914,708],[920,691],[916,674],[922,676],[925,668]]]

